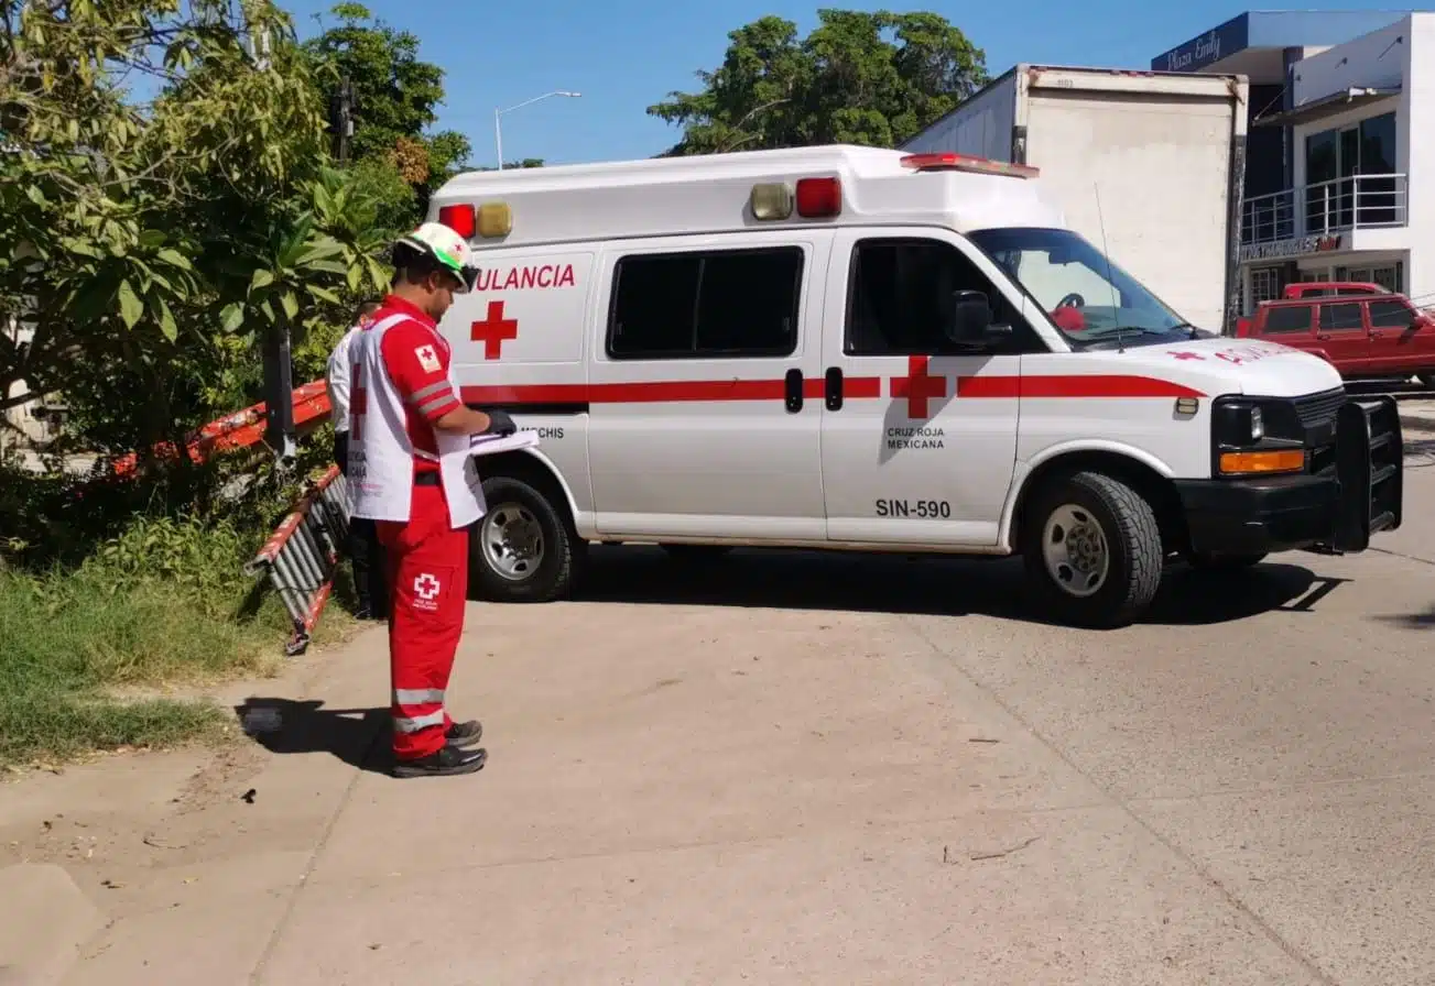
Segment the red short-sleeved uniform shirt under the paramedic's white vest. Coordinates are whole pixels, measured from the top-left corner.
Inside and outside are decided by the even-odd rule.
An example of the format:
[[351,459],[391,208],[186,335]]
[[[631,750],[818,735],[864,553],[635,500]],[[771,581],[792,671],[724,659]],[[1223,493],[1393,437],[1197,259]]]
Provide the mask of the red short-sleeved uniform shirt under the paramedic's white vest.
[[[419,451],[438,456],[439,446],[433,436],[433,423],[462,407],[453,384],[449,383],[449,360],[452,351],[448,340],[439,335],[433,320],[416,305],[389,295],[373,314],[375,324],[390,315],[408,315],[408,320],[392,325],[380,343],[380,357],[389,371],[389,378],[403,400],[409,441]],[[435,459],[415,456],[415,472],[435,472]]]

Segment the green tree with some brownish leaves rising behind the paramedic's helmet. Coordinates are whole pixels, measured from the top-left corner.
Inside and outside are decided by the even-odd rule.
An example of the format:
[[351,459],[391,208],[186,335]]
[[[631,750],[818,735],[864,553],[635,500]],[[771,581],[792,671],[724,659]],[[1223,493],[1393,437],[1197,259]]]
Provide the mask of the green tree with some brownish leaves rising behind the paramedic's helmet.
[[382,165],[392,166],[410,192],[405,199],[390,186],[395,198],[387,208],[412,206],[410,219],[416,219],[433,189],[458,173],[471,153],[462,133],[429,132],[443,102],[443,69],[419,59],[416,34],[395,30],[360,3],[336,4],[330,14],[339,23],[303,46],[326,106],[349,79],[354,97],[350,156],[367,165],[370,178],[379,176]]

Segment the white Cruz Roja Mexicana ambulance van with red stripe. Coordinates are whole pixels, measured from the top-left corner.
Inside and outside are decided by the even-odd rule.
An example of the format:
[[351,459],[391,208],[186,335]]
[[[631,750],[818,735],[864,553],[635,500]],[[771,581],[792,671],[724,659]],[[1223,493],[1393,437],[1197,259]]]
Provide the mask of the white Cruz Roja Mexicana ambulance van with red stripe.
[[1116,626],[1171,559],[1399,526],[1392,400],[1188,325],[1039,186],[850,146],[448,182],[464,400],[541,434],[478,460],[484,595],[565,595],[590,542],[1019,553],[1052,615]]

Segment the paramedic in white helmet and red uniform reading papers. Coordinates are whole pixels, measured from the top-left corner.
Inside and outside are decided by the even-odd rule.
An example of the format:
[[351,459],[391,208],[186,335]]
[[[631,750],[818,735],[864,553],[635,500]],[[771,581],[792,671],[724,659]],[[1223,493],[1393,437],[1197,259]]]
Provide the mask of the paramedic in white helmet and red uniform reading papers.
[[485,504],[471,436],[511,434],[508,414],[459,401],[438,321],[474,287],[468,242],[426,222],[393,245],[393,284],[356,344],[349,469],[353,513],[387,555],[396,777],[484,767],[482,727],[445,709],[468,595],[468,526]]

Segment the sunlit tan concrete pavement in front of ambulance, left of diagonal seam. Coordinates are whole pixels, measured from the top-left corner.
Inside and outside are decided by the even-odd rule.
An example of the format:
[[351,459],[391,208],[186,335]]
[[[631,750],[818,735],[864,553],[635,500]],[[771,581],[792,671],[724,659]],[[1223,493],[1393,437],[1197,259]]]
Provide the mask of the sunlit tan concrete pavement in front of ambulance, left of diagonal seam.
[[[949,626],[979,652],[1003,623]],[[1319,982],[907,618],[475,605],[469,628],[478,775],[377,772],[372,631],[288,686],[321,705],[284,709],[281,752],[0,791],[10,853],[109,920],[63,982]]]

